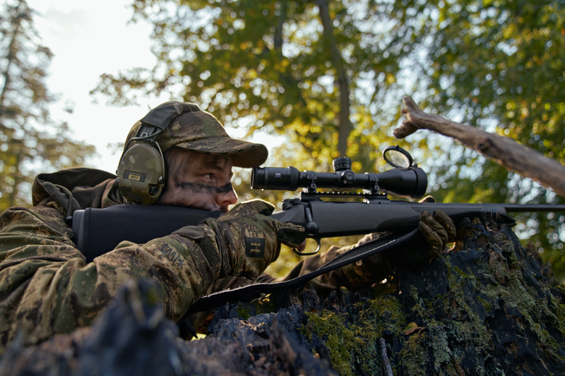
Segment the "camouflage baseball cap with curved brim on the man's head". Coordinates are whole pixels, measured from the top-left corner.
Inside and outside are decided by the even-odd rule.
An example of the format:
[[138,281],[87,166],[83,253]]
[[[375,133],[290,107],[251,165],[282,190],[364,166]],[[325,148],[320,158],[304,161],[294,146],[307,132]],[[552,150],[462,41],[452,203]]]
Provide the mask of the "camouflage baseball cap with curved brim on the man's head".
[[[169,117],[172,120],[156,139],[163,152],[171,147],[181,147],[206,154],[229,155],[232,157],[234,166],[246,168],[259,166],[266,161],[268,150],[265,145],[231,138],[215,116],[201,111],[196,104],[166,102],[155,109],[167,107],[169,107]],[[148,119],[155,109],[151,110],[142,120]],[[159,114],[164,114],[164,112],[161,111]],[[141,121],[133,125],[125,145],[136,137],[140,127]]]

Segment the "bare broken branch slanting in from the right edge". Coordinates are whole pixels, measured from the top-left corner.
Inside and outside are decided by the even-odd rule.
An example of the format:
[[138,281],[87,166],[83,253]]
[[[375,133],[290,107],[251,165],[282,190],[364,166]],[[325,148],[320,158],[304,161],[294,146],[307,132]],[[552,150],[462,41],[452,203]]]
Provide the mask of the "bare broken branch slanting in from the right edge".
[[455,123],[439,115],[427,114],[411,97],[404,97],[403,102],[403,114],[406,119],[394,130],[396,138],[405,138],[418,129],[428,129],[446,135],[507,169],[531,178],[546,188],[552,188],[557,195],[565,198],[565,166],[554,159],[545,157],[511,138]]

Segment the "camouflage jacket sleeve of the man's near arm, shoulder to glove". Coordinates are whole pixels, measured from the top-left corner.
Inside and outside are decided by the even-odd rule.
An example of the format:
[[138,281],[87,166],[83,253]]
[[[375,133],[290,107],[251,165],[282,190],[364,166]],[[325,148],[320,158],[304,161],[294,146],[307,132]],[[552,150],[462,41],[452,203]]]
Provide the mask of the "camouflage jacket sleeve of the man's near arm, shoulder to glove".
[[215,234],[206,226],[192,238],[124,241],[87,264],[56,206],[13,207],[0,216],[0,353],[18,331],[30,344],[89,325],[127,279],[155,279],[165,314],[177,320],[220,276],[220,256],[210,250]]

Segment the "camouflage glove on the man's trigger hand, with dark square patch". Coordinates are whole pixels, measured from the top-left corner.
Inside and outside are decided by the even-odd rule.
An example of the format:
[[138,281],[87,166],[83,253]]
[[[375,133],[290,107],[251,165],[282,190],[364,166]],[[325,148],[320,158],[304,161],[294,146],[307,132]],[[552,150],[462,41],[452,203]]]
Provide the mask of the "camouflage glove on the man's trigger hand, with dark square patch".
[[[235,206],[218,219],[206,219],[213,229],[222,257],[222,274],[256,279],[280,253],[280,243],[297,247],[304,229],[267,217],[273,205],[251,200]],[[225,262],[227,260],[227,262]]]

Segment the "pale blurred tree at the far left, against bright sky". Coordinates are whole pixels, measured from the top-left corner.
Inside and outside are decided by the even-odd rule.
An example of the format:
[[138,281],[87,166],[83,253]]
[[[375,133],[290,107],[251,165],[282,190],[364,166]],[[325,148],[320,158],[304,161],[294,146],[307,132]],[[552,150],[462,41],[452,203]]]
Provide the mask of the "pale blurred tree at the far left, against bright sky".
[[40,44],[33,11],[6,1],[0,13],[0,212],[28,205],[39,171],[83,164],[94,147],[69,140],[66,123],[49,119],[54,99],[45,87],[52,53]]

